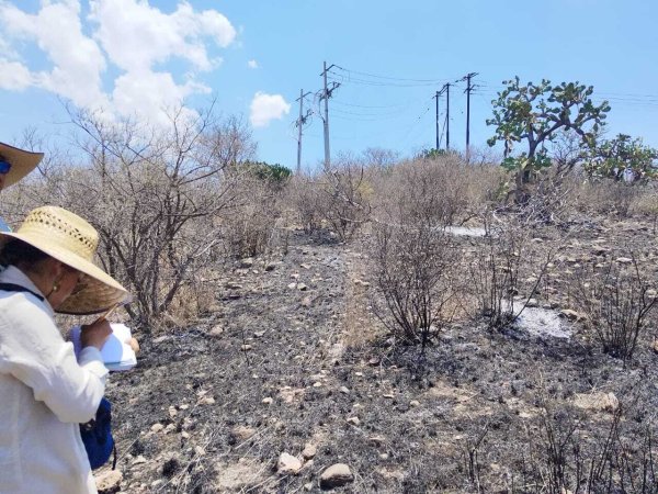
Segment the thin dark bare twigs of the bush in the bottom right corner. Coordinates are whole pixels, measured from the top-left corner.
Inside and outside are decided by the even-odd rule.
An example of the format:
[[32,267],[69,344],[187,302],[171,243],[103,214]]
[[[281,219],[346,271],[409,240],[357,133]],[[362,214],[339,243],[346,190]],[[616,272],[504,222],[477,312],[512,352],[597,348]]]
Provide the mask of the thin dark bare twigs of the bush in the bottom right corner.
[[625,405],[608,429],[588,430],[588,418],[560,402],[538,398],[537,427],[526,431],[523,460],[512,474],[512,493],[655,493],[658,490],[656,420],[637,424]]

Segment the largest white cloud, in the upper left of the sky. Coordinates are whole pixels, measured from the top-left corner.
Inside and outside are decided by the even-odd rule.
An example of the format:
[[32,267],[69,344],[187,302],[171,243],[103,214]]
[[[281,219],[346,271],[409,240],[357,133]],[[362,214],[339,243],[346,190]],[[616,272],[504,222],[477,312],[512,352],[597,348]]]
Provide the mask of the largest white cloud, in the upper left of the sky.
[[[209,91],[194,74],[216,68],[222,58],[211,50],[236,38],[223,14],[195,11],[185,0],[171,13],[148,0],[88,4],[83,19],[81,0],[42,0],[35,14],[0,0],[0,89],[38,87],[80,108],[161,121],[166,109]],[[34,60],[21,58],[26,42],[46,55],[50,68],[36,70]],[[189,64],[192,72],[177,80],[167,71],[171,60]],[[115,80],[103,80],[109,67],[120,69]]]

